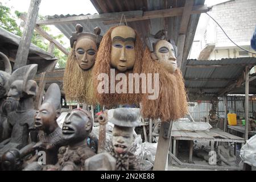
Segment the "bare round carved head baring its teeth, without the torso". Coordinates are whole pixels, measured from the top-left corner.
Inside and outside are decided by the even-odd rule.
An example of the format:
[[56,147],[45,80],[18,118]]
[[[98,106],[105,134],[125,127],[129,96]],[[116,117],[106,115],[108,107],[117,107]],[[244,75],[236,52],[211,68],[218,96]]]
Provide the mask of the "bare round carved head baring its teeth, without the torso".
[[92,115],[88,111],[82,109],[72,110],[63,123],[63,138],[69,144],[82,142],[88,137],[92,127]]

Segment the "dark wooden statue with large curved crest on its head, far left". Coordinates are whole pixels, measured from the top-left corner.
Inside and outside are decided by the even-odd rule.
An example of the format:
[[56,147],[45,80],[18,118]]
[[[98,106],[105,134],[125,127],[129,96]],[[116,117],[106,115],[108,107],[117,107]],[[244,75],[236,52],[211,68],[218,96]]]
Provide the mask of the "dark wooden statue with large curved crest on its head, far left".
[[11,108],[15,109],[8,114],[8,128],[10,138],[0,143],[0,156],[13,148],[20,149],[28,144],[28,135],[32,142],[36,141],[37,133],[34,127],[33,98],[36,96],[36,81],[32,80],[38,65],[31,64],[16,69],[10,77],[10,90],[7,94]]

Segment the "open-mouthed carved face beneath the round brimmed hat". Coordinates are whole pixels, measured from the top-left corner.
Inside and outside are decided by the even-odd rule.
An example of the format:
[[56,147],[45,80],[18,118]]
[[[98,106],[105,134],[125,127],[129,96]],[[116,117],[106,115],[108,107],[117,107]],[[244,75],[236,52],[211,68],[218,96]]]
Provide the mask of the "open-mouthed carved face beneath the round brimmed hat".
[[112,143],[118,154],[125,154],[133,144],[133,127],[114,126]]

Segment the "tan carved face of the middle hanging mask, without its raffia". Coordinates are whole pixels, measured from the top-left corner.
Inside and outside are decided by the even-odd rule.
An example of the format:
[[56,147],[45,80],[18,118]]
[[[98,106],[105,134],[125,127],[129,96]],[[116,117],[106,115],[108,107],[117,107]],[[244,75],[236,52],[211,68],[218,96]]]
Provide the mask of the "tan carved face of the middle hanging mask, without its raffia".
[[135,38],[133,28],[119,26],[111,34],[111,66],[120,72],[133,69],[135,64]]

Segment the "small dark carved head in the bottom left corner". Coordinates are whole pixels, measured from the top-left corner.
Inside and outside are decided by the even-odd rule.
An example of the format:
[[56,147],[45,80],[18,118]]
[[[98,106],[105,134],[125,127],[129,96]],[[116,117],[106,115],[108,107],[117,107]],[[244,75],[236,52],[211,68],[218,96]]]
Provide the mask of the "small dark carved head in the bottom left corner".
[[19,151],[11,149],[2,155],[2,169],[5,171],[16,171],[22,167]]

